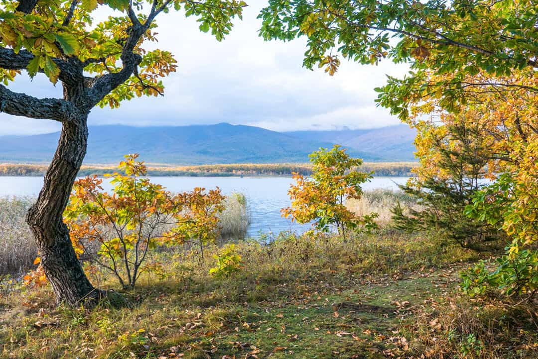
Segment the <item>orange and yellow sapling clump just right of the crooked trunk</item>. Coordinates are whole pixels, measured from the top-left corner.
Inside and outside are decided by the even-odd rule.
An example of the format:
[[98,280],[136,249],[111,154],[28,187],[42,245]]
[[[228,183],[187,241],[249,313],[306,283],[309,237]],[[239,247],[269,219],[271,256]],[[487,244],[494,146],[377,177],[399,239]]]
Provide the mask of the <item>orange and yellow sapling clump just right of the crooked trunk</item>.
[[[143,266],[147,255],[159,245],[180,245],[190,238],[200,246],[216,238],[224,196],[220,189],[205,193],[203,188],[172,195],[147,178],[138,155],[125,156],[119,170],[107,174],[114,186],[103,192],[102,180],[77,180],[64,213],[77,255],[110,270],[122,287],[134,287],[140,274],[155,270]],[[203,250],[202,250],[203,251]]]

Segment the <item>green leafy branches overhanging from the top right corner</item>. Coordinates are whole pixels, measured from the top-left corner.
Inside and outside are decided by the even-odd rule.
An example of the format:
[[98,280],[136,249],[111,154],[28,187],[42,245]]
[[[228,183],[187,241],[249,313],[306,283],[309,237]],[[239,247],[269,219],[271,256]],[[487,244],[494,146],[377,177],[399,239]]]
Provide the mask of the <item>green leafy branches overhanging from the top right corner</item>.
[[[306,36],[303,64],[325,67],[330,75],[340,56],[363,64],[385,57],[410,61],[409,76],[389,77],[378,89],[378,102],[406,119],[408,105],[429,94],[454,112],[470,102],[475,87],[538,92],[535,84],[521,82],[538,68],[536,5],[535,0],[269,0],[259,15],[260,35],[285,41]],[[433,80],[429,70],[451,76]],[[498,80],[468,78],[480,71]]]

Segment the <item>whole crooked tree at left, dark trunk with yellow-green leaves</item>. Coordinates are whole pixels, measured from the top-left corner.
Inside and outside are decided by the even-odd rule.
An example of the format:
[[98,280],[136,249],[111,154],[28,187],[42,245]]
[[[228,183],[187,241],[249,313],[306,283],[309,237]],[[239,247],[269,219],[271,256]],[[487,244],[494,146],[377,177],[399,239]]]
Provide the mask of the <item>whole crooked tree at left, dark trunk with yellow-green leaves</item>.
[[[117,10],[93,25],[98,7]],[[0,111],[62,123],[44,186],[27,215],[41,263],[58,302],[79,304],[101,296],[84,275],[63,223],[71,187],[86,154],[87,118],[96,106],[119,106],[135,96],[162,94],[161,78],[175,71],[171,53],[144,49],[155,41],[160,13],[183,10],[217,40],[231,30],[246,4],[236,0],[2,0],[0,10]],[[61,82],[63,98],[38,99],[10,91],[21,71]]]

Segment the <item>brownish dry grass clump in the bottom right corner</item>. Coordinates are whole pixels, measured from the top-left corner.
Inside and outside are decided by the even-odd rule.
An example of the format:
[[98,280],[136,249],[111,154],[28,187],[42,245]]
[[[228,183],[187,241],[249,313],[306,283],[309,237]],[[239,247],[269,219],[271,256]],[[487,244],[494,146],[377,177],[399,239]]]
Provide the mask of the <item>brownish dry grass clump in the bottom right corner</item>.
[[537,358],[538,303],[518,306],[458,294],[416,314],[412,350],[428,358]]

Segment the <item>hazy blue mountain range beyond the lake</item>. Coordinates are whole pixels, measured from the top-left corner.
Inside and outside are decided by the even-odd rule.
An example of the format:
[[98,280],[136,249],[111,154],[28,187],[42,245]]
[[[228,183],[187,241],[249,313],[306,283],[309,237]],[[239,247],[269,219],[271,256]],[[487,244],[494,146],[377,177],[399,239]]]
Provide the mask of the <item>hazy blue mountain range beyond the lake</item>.
[[[0,136],[0,162],[48,162],[59,133]],[[151,163],[299,163],[308,153],[333,143],[367,161],[413,160],[413,137],[406,126],[375,130],[300,131],[219,123],[181,127],[94,126],[89,128],[85,163],[117,163],[140,153]]]

